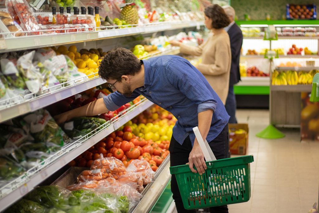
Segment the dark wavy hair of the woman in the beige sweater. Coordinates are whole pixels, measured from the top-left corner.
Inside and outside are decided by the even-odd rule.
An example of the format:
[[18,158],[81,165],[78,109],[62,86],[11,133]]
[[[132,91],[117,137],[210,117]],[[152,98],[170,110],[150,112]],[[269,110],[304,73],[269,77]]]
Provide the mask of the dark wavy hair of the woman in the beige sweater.
[[206,7],[204,13],[208,18],[212,19],[211,26],[215,29],[224,28],[230,24],[230,20],[224,9],[218,4]]

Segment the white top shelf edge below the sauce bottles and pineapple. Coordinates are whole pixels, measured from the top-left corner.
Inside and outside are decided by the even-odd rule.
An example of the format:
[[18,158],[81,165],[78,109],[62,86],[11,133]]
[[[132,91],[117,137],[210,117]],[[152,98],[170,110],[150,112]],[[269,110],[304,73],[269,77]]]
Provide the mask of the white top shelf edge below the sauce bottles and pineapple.
[[[174,30],[187,27],[197,27],[204,25],[204,21],[178,21],[178,22],[158,22],[152,24],[145,24],[141,26],[125,25],[126,28],[111,29],[112,27],[100,27],[91,32],[78,32],[78,33],[61,33],[61,34],[43,34],[44,31],[39,31],[42,35],[21,36],[15,38],[0,39],[0,53],[23,50],[35,49],[40,47],[51,47],[56,45],[89,42],[100,39],[115,38],[121,36],[129,36],[134,34],[152,33],[164,30]],[[122,26],[120,26],[122,27]],[[88,28],[89,29],[89,28]],[[88,31],[85,29],[85,31]],[[103,30],[107,29],[107,30]],[[52,30],[51,30],[52,31]],[[27,33],[27,32],[26,32]],[[4,33],[2,33],[4,34]]]

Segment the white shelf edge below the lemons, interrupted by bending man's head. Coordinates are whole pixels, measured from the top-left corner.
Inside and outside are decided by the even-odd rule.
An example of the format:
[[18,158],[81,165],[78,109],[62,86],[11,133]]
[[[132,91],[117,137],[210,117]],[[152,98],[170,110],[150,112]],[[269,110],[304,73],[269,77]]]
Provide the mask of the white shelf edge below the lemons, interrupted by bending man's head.
[[[168,54],[177,55],[179,53],[180,53],[180,48],[173,47],[171,49],[167,49],[159,53],[150,54],[140,59],[147,59],[151,57],[168,55]],[[22,103],[9,103],[3,107],[0,107],[0,122],[17,117],[19,115],[26,114],[28,112],[32,112],[34,110],[41,109],[52,103],[60,101],[64,98],[70,97],[72,95],[78,94],[92,87],[96,87],[98,85],[105,83],[105,81],[98,76],[96,76],[93,79],[88,79],[87,77],[84,77],[84,78],[78,79],[78,81],[79,80],[82,80],[82,81],[75,84],[71,84],[71,85],[69,85],[70,82],[56,85],[54,86],[55,89],[56,87],[61,87],[61,88],[58,88],[54,90],[53,92],[50,92],[50,89],[54,87],[50,87],[47,89],[48,91],[46,94],[43,94],[40,96],[36,96],[36,94],[34,93],[29,94],[26,97],[27,100]],[[74,80],[72,81],[74,83]],[[10,102],[10,100],[6,100],[6,101]]]

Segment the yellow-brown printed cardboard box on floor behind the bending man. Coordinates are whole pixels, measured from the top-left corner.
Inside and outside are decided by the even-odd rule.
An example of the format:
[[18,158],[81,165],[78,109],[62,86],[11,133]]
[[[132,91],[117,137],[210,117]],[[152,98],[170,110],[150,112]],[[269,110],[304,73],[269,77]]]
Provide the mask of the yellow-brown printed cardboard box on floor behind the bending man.
[[[248,147],[248,124],[228,124],[229,150],[234,155],[246,155]],[[239,131],[240,129],[245,131]]]

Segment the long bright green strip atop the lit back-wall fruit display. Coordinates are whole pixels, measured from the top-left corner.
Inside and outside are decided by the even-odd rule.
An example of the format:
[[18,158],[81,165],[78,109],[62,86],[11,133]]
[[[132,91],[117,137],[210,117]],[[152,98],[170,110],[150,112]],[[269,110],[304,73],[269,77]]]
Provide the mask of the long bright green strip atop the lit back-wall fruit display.
[[268,25],[274,25],[274,24],[295,24],[295,25],[319,25],[319,20],[238,20],[236,21],[237,25],[246,24],[246,25],[255,25],[255,24],[268,24]]

